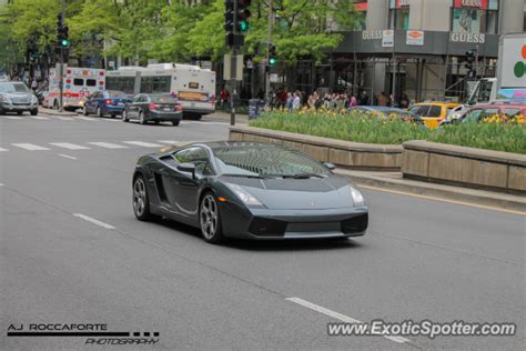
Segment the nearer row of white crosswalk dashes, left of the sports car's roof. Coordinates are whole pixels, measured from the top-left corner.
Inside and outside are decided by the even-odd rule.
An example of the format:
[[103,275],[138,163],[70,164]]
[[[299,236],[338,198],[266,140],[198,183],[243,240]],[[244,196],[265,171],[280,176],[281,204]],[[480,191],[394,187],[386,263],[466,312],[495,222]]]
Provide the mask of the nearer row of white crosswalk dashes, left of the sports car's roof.
[[176,140],[155,140],[155,141],[141,141],[141,140],[127,140],[127,141],[87,141],[82,143],[72,142],[47,142],[47,143],[30,143],[30,142],[13,142],[2,144],[0,152],[7,152],[10,150],[26,150],[26,151],[50,151],[50,150],[91,150],[91,149],[130,149],[130,148],[162,148],[170,144],[178,144]]

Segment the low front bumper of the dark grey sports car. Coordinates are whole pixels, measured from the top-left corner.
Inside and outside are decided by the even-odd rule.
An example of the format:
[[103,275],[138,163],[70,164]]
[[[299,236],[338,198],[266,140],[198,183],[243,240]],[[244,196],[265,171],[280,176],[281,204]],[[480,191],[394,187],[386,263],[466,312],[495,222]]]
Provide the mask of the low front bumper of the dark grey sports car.
[[365,234],[366,207],[323,210],[250,209],[236,203],[221,205],[223,233],[254,240],[350,238]]

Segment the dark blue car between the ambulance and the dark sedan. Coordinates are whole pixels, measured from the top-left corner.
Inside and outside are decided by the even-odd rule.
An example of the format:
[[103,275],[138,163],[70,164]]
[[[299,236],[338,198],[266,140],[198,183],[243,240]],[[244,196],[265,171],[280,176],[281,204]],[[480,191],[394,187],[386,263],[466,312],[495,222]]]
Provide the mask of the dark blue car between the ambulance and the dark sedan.
[[118,90],[101,90],[95,91],[84,102],[82,112],[84,116],[95,113],[99,117],[110,114],[115,117],[122,114],[124,106],[131,100],[128,98],[125,92]]

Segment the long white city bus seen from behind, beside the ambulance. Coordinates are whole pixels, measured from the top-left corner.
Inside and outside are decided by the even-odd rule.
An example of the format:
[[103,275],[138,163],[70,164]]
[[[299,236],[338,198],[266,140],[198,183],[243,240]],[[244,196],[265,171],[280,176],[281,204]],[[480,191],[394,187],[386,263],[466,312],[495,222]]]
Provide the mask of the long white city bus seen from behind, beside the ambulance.
[[179,100],[186,117],[201,118],[215,110],[215,72],[199,66],[155,63],[121,67],[108,71],[107,89],[128,94],[170,93]]

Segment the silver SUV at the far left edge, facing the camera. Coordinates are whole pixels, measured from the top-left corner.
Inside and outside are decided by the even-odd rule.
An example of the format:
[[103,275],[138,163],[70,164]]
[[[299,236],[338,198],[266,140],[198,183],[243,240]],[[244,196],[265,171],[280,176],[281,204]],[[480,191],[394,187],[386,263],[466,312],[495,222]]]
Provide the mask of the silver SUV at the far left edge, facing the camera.
[[0,82],[0,114],[22,114],[24,111],[39,114],[39,100],[34,93],[22,82]]

